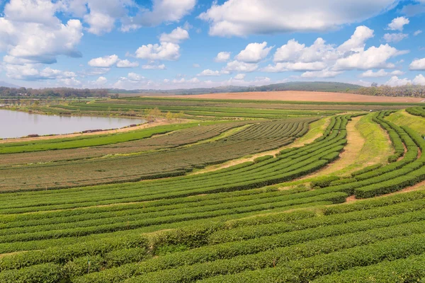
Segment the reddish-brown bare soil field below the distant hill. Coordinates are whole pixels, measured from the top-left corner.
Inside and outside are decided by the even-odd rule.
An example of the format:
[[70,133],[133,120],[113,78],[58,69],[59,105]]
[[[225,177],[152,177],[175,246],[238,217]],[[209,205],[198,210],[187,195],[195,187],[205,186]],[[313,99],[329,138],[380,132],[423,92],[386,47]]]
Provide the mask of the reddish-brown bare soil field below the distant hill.
[[[164,96],[159,93],[158,96]],[[170,96],[167,96],[168,98]],[[249,93],[208,93],[190,96],[172,96],[175,98],[212,98],[212,99],[246,99],[246,100],[287,100],[312,102],[402,102],[419,103],[424,98],[362,96],[352,93],[327,93],[315,91],[264,91]]]

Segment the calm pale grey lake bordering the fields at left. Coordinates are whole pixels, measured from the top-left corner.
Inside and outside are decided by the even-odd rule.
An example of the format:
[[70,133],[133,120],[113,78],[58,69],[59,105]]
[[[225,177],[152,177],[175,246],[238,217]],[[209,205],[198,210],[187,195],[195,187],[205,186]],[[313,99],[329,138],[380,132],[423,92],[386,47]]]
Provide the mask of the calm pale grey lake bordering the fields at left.
[[89,129],[117,129],[146,122],[120,117],[55,116],[0,109],[0,138],[28,134],[71,134]]

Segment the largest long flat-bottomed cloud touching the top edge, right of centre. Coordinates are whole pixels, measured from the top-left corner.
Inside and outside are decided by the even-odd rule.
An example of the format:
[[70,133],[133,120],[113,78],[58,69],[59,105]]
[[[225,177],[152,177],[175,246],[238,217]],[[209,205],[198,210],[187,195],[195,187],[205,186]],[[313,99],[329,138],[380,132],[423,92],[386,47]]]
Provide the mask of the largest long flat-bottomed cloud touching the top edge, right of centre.
[[227,0],[213,2],[199,18],[210,23],[210,35],[218,36],[322,32],[364,21],[394,4],[394,0]]

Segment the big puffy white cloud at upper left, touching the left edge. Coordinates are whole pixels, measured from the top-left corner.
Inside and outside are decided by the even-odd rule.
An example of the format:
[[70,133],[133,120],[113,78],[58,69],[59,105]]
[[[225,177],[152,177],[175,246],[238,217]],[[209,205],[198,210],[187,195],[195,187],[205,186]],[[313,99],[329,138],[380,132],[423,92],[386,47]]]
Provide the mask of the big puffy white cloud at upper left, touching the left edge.
[[[6,4],[5,16],[0,17],[0,52],[45,64],[55,63],[57,55],[61,54],[81,57],[77,51],[83,35],[81,22],[69,20],[63,24],[54,16],[53,8],[47,8],[43,15],[38,15],[40,8],[45,7],[50,6],[44,0],[30,3],[12,0]],[[11,15],[10,18],[8,15]],[[26,16],[28,21],[23,20]]]

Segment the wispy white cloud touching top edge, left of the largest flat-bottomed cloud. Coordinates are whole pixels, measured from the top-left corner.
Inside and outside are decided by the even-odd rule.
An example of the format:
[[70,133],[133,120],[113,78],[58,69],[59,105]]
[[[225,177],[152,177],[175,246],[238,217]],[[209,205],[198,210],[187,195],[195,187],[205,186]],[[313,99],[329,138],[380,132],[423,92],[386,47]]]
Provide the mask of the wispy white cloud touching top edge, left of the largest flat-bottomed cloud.
[[127,31],[159,25],[160,23],[180,21],[196,5],[196,0],[153,0],[152,2],[152,10],[140,8],[136,16],[124,18],[122,30]]

